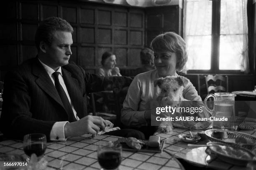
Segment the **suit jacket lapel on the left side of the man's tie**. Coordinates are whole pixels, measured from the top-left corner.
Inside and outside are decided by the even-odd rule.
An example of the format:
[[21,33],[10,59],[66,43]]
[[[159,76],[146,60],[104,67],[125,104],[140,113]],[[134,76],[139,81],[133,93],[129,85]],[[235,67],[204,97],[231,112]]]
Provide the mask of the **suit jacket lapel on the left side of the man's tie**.
[[37,57],[35,58],[35,62],[32,66],[32,73],[38,77],[36,79],[36,84],[64,108],[61,98],[59,97],[59,93]]

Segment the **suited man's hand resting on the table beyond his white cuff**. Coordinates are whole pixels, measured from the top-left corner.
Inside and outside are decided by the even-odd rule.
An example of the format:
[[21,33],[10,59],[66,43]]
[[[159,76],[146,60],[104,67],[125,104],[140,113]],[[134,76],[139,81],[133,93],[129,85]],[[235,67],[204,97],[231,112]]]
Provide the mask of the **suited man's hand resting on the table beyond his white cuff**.
[[64,126],[65,137],[81,136],[86,133],[92,134],[94,138],[100,130],[105,131],[107,121],[99,116],[85,116],[82,119],[67,123]]

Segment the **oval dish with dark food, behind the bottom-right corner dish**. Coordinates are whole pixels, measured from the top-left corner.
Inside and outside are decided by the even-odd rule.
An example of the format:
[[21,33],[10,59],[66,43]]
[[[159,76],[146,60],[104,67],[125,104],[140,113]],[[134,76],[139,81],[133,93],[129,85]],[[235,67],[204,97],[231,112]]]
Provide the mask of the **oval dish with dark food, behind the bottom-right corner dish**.
[[246,133],[209,129],[205,131],[205,135],[211,142],[220,142],[228,145],[237,144],[249,150],[256,146],[256,137]]

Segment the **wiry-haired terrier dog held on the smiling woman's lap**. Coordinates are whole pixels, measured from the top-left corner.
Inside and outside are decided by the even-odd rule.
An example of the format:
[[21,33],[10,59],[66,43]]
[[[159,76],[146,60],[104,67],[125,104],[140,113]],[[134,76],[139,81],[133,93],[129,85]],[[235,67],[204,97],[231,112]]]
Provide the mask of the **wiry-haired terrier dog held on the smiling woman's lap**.
[[[166,106],[179,106],[180,101],[183,99],[184,87],[188,84],[189,80],[183,76],[166,76],[154,80],[154,87],[158,86],[161,90],[156,101],[160,107]],[[170,121],[161,122],[158,128],[160,132],[169,132],[172,130],[172,123]]]

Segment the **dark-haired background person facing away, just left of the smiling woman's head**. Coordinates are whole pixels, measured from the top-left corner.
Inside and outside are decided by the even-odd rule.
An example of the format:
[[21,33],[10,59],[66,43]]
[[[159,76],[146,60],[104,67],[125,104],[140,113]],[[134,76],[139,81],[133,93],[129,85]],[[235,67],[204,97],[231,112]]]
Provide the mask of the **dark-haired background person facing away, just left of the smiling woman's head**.
[[149,48],[143,48],[141,50],[141,67],[136,68],[135,75],[138,75],[142,72],[147,72],[150,70],[155,70],[154,65],[154,51]]

